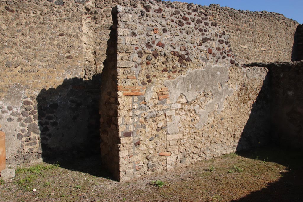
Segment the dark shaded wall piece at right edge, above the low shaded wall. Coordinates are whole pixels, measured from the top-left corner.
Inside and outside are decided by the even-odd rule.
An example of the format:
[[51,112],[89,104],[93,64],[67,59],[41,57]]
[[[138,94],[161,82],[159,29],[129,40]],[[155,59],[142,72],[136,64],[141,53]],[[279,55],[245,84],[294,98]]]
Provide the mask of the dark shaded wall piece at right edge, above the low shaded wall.
[[298,25],[294,35],[294,44],[292,45],[291,61],[303,60],[303,24]]

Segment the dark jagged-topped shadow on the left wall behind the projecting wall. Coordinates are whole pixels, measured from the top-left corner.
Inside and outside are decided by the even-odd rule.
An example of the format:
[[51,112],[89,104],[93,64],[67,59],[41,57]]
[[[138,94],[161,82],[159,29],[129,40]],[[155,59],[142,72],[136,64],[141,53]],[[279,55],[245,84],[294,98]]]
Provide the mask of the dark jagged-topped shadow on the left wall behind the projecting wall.
[[100,150],[101,74],[91,80],[65,79],[37,96],[42,159],[60,167],[110,177]]

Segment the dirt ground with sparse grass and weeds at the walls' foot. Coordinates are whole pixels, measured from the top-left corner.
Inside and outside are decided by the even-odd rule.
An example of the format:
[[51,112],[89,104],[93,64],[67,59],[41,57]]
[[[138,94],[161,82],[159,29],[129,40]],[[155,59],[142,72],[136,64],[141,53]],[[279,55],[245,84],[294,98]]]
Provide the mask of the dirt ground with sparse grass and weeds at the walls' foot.
[[18,167],[15,178],[0,181],[0,201],[301,202],[302,157],[302,152],[267,147],[129,182],[112,180],[94,158],[35,164]]

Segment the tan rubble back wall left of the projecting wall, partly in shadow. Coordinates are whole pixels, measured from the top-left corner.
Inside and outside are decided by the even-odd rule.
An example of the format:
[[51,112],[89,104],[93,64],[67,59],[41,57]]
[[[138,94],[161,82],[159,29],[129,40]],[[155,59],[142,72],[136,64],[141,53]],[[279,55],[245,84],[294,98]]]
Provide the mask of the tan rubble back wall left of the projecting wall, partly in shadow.
[[95,29],[106,25],[96,25],[95,10],[85,1],[0,1],[0,122],[7,164],[41,154],[62,157],[62,150],[81,156],[95,147],[100,153],[103,66]]

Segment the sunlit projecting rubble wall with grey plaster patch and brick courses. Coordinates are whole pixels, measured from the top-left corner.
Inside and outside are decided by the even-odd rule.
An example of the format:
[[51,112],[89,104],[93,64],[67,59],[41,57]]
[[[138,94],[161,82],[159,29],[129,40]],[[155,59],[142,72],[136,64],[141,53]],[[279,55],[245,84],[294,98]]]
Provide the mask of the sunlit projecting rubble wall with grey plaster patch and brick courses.
[[[120,180],[235,151],[268,70],[242,68],[198,6],[116,11]],[[265,113],[256,116],[266,122]],[[250,127],[265,128],[247,128],[241,149],[265,143],[268,128]]]

